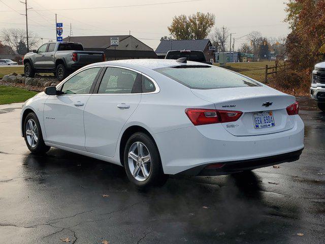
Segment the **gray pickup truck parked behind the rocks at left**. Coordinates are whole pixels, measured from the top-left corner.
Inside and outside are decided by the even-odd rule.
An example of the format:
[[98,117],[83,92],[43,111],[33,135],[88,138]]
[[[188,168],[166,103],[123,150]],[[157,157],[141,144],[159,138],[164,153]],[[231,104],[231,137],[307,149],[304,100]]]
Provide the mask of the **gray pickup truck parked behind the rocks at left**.
[[34,77],[38,72],[54,73],[61,81],[81,67],[105,59],[104,52],[84,51],[81,43],[49,42],[25,55],[24,73],[26,77]]

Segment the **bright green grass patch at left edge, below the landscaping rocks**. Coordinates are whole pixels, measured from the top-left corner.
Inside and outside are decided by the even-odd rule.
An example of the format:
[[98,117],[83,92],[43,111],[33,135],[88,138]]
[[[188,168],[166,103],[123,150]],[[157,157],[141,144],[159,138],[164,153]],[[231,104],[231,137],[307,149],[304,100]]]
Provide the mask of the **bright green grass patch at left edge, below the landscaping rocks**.
[[0,104],[25,102],[36,94],[30,90],[0,85]]

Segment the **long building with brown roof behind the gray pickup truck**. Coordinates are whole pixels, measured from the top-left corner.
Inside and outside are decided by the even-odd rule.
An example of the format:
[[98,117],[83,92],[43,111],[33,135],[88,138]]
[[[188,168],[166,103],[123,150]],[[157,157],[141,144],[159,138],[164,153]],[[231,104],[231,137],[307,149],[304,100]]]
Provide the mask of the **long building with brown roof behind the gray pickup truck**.
[[[119,38],[119,46],[111,46],[111,37]],[[66,37],[63,42],[79,42],[86,51],[103,51],[107,60],[157,58],[151,47],[131,35]]]

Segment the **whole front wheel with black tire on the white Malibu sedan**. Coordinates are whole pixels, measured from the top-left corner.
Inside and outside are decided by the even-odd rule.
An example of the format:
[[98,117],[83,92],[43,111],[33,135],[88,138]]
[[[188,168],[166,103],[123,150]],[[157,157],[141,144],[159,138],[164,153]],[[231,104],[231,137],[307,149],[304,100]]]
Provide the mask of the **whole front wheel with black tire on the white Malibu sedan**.
[[35,113],[28,113],[23,124],[26,145],[31,153],[45,154],[51,147],[45,145],[40,122]]

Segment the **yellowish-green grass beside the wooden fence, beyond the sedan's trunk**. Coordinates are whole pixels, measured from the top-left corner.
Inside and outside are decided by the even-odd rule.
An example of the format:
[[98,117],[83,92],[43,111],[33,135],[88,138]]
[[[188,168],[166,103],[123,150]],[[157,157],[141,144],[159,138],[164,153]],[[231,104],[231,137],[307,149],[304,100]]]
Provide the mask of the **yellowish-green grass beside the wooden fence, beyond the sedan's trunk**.
[[[274,67],[275,62],[265,61],[265,62],[228,63],[223,68],[241,73],[254,80],[264,82],[266,65],[268,65],[269,67]],[[271,72],[271,70],[269,70],[269,72]]]

